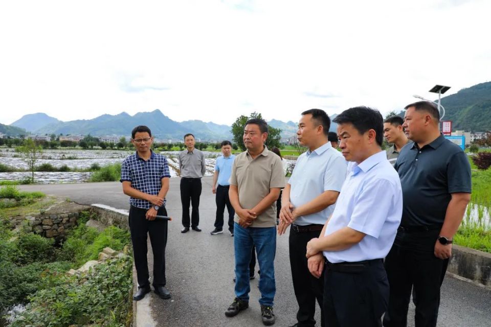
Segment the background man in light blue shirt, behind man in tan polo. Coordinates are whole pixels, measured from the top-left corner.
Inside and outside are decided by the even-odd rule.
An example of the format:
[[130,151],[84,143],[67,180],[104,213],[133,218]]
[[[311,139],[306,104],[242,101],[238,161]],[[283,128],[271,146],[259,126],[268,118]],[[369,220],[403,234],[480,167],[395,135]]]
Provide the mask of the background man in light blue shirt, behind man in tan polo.
[[[215,229],[210,232],[211,235],[217,235],[224,232],[224,211],[227,206],[229,213],[229,231],[230,236],[234,236],[234,207],[230,203],[229,188],[230,188],[230,174],[232,173],[232,165],[234,163],[235,155],[232,154],[232,143],[230,141],[224,141],[221,143],[221,153],[223,156],[216,158],[215,172],[213,173],[213,186],[211,192],[216,194],[216,217],[215,217]],[[215,187],[218,181],[218,186]]]

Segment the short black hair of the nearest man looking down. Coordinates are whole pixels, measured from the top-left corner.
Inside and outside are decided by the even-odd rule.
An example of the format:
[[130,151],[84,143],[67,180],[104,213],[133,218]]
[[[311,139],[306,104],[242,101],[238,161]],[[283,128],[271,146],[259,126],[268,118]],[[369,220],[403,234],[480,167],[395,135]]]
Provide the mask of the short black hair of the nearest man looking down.
[[344,110],[332,120],[336,124],[352,124],[360,134],[373,129],[379,146],[384,142],[384,119],[377,109],[360,106]]

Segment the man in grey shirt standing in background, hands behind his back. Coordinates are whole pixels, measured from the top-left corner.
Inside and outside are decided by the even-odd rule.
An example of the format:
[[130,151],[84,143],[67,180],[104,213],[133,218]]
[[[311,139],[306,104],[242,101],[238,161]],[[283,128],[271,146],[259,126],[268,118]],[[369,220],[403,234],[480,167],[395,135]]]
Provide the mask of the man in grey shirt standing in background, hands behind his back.
[[[189,225],[195,231],[199,229],[199,197],[201,196],[201,178],[206,172],[205,155],[194,148],[194,135],[184,135],[186,150],[179,153],[179,169],[181,170],[181,203],[183,205],[182,233],[189,231]],[[189,217],[189,204],[193,209]]]

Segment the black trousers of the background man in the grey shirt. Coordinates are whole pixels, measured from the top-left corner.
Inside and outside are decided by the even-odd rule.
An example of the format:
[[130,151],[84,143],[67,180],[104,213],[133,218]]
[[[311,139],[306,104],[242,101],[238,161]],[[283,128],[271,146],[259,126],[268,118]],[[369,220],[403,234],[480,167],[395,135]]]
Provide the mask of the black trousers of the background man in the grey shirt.
[[[183,226],[197,227],[199,225],[199,196],[201,195],[200,178],[181,178],[181,203],[183,204]],[[191,203],[192,212],[189,217],[189,204]]]

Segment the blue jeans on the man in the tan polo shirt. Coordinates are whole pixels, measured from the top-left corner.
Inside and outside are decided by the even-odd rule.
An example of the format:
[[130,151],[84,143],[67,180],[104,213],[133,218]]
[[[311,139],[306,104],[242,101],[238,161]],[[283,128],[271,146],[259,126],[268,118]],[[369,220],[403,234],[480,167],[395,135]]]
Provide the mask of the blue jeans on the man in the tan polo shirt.
[[261,276],[259,278],[261,298],[259,299],[259,304],[273,307],[273,300],[276,293],[274,265],[276,226],[243,228],[239,224],[234,223],[235,296],[241,300],[249,301],[249,292],[251,291],[249,263],[251,261],[253,246],[256,246],[257,262],[261,270]]

